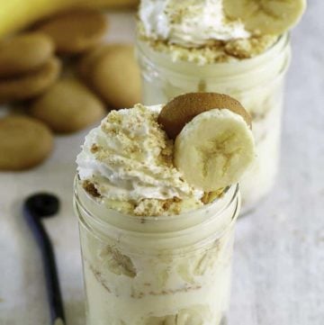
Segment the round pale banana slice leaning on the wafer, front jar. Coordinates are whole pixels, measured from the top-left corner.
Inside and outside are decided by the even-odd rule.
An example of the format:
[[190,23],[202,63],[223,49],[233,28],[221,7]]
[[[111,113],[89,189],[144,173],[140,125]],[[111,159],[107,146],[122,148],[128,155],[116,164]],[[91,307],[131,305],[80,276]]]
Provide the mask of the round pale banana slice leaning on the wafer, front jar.
[[175,167],[205,192],[237,183],[254,158],[252,131],[229,109],[196,115],[175,139]]

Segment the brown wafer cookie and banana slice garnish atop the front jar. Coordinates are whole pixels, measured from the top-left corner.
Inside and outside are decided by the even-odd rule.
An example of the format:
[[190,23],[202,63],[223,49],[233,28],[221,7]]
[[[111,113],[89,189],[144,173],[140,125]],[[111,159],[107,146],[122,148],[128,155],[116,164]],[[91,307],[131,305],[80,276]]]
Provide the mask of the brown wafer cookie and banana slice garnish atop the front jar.
[[255,158],[250,117],[241,104],[227,95],[186,94],[166,104],[159,115],[167,134],[171,128],[165,122],[171,116],[172,134],[183,125],[175,138],[174,163],[185,180],[205,192],[237,183]]

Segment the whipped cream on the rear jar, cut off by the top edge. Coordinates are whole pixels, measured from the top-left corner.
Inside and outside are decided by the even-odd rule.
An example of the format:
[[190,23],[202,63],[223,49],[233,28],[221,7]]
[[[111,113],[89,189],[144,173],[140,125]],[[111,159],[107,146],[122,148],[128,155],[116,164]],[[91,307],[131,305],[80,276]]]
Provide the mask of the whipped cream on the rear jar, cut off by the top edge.
[[222,0],[142,0],[139,19],[148,37],[183,47],[250,36],[243,23],[228,21]]

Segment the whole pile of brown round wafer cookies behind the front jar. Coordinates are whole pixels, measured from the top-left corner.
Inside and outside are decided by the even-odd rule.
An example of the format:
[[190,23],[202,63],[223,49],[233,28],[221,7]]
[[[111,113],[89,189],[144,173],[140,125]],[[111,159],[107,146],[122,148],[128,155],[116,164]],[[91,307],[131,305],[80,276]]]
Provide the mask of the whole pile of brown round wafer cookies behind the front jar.
[[0,104],[23,106],[0,119],[0,170],[34,167],[49,157],[53,133],[140,101],[133,47],[104,44],[108,25],[98,11],[76,10],[0,41]]

